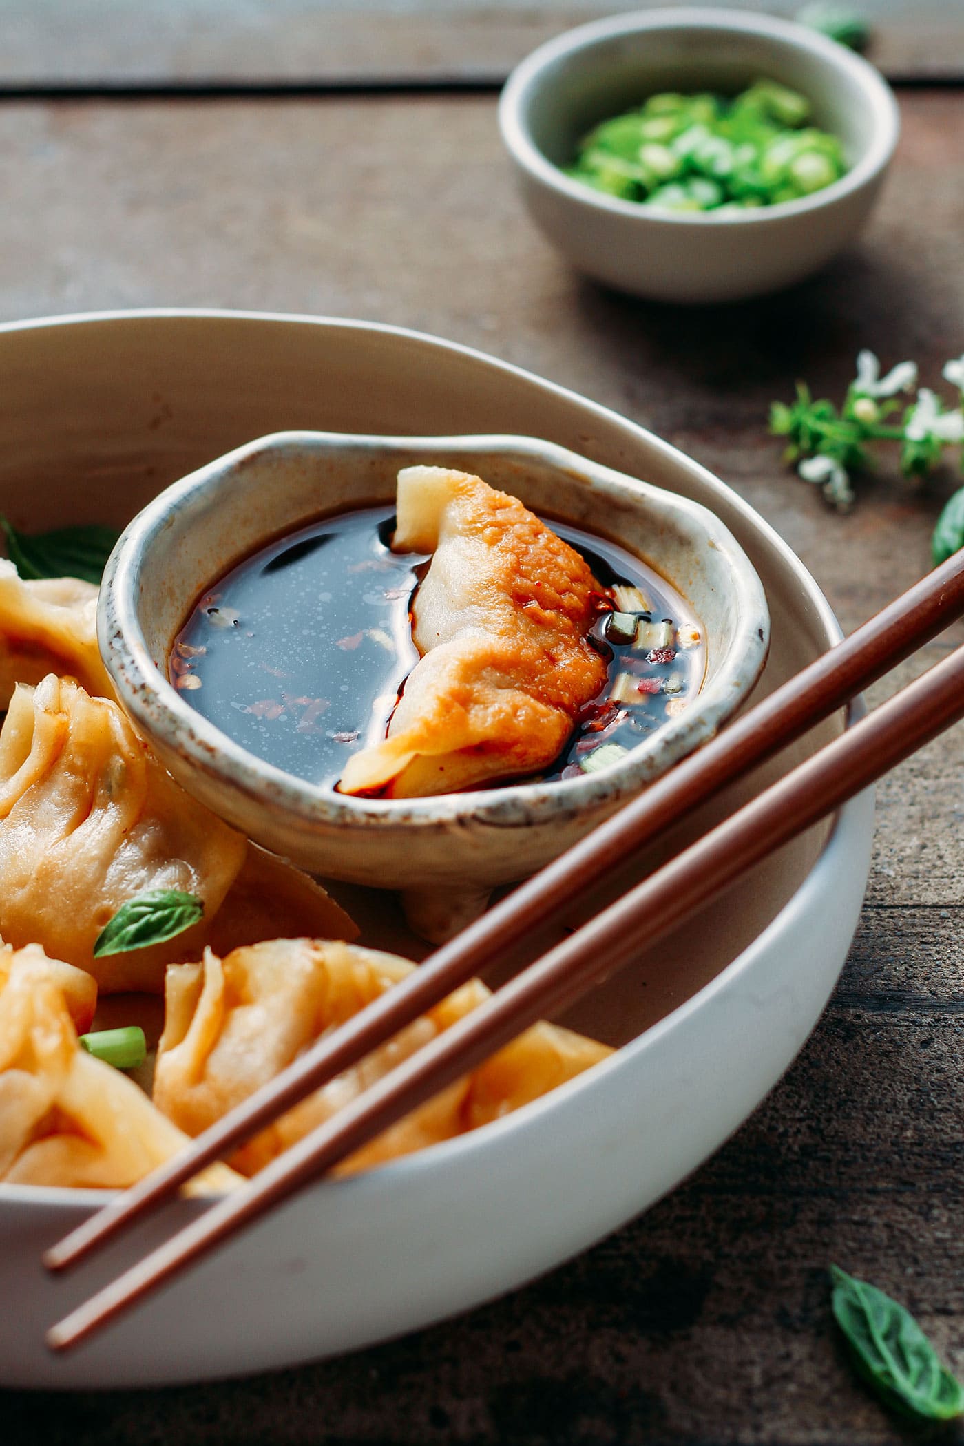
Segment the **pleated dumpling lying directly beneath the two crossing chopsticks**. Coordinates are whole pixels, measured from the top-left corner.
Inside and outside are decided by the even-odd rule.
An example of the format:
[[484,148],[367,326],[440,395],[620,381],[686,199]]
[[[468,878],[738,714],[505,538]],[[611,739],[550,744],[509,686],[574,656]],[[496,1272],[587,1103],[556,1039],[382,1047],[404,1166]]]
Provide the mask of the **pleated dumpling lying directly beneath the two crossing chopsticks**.
[[[272,1080],[327,1030],[343,1024],[415,966],[395,954],[311,938],[211,950],[168,969],[155,1103],[198,1135]],[[263,1129],[231,1158],[253,1174],[330,1119],[393,1066],[489,998],[473,979],[360,1064]],[[497,1119],[565,1083],[613,1051],[571,1030],[536,1024],[471,1074],[449,1084],[340,1167],[353,1174]]]

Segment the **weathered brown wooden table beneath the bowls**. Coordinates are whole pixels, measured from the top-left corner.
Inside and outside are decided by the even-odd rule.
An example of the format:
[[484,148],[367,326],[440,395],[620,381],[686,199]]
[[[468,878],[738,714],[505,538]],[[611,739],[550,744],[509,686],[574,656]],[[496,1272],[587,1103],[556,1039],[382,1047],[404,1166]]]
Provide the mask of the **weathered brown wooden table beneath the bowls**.
[[[931,383],[964,351],[960,0],[879,0],[874,58],[902,82],[905,130],[861,243],[793,292],[708,311],[580,281],[510,184],[496,82],[536,40],[610,9],[9,0],[0,317],[250,307],[477,346],[705,463],[856,626],[925,571],[954,480],[913,492],[883,467],[840,518],[782,469],[765,419],[796,376],[840,395],[860,347],[915,357]],[[964,1371],[963,779],[957,729],[882,785],[860,931],[818,1030],[645,1218],[526,1290],[347,1359],[166,1391],[6,1392],[0,1440],[916,1439],[854,1382],[825,1272],[837,1261],[899,1296]]]

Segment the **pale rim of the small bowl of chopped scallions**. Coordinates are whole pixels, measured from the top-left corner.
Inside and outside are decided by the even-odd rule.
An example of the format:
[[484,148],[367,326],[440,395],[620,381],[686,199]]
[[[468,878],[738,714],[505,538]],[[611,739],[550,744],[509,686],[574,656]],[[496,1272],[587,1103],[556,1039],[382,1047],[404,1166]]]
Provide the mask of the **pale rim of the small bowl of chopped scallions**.
[[[731,35],[762,35],[783,40],[791,49],[815,55],[825,61],[831,69],[854,81],[876,121],[873,140],[857,163],[837,181],[811,195],[720,215],[715,211],[669,211],[606,195],[603,191],[595,191],[593,187],[567,176],[536,146],[523,120],[523,113],[530,91],[538,85],[548,65],[619,35],[694,29],[724,30]],[[575,26],[575,29],[546,40],[545,45],[520,61],[506,81],[499,98],[499,127],[506,149],[533,179],[597,211],[630,215],[655,226],[766,226],[780,217],[804,215],[824,205],[832,205],[834,201],[858,191],[886,171],[900,137],[900,110],[883,75],[869,61],[837,40],[821,35],[819,30],[809,30],[804,25],[776,16],[754,14],[746,10],[708,10],[694,6],[678,10],[632,12],[604,20],[590,20],[587,25]]]

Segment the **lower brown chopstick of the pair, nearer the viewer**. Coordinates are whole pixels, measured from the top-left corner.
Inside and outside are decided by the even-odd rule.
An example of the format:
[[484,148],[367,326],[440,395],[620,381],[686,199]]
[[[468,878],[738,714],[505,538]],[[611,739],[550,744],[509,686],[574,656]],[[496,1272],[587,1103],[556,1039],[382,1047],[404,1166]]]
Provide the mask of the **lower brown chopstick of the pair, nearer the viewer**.
[[52,1349],[77,1345],[243,1225],[330,1170],[474,1069],[543,1015],[660,940],[766,855],[789,843],[964,717],[964,646],[801,763],[711,833],[516,975],[478,1009],[410,1056],[217,1205],[55,1325]]

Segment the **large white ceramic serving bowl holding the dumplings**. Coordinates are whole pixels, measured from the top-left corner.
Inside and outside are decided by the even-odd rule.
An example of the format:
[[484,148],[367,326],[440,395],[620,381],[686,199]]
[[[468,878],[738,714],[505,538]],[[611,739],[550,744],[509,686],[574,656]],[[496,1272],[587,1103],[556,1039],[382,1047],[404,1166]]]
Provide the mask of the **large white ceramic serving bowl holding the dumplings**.
[[[126,523],[176,477],[277,429],[535,435],[723,519],[767,594],[760,694],[838,638],[799,561],[702,467],[429,337],[214,312],[61,318],[0,327],[0,510],[17,525]],[[691,829],[841,726],[793,745]],[[814,1027],[856,927],[872,814],[870,795],[854,800],[584,999],[568,1022],[626,1045],[601,1067],[473,1135],[308,1189],[72,1356],[46,1352],[45,1326],[198,1205],[178,1202],[53,1280],[40,1249],[103,1196],[0,1186],[0,1382],[189,1381],[345,1351],[509,1290],[646,1209],[740,1125]],[[380,895],[356,891],[351,907],[363,941],[405,947]]]

